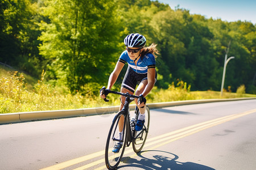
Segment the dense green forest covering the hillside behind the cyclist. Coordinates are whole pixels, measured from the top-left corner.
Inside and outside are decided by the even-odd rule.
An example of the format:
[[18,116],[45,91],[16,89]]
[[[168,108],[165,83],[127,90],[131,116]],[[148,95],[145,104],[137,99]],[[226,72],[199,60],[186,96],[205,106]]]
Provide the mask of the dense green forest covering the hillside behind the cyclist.
[[[187,82],[191,91],[256,94],[256,25],[205,18],[150,0],[2,0],[0,62],[71,94],[98,94],[108,83],[123,39],[141,33],[158,44],[156,87]],[[113,87],[118,90],[125,69]]]

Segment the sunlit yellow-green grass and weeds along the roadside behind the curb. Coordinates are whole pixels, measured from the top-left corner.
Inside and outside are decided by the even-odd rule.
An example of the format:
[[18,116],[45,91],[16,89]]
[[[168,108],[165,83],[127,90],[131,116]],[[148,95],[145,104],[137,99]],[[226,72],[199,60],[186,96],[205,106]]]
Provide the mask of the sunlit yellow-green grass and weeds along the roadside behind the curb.
[[[28,80],[27,80],[28,79]],[[63,87],[53,87],[44,82],[44,73],[40,80],[31,76],[6,70],[0,67],[0,113],[52,111],[61,109],[80,109],[93,107],[106,107],[119,105],[119,97],[110,94],[109,103],[105,103],[99,96],[72,95],[69,92],[61,92]],[[189,91],[186,83],[180,82],[178,87],[170,84],[168,90],[153,88],[147,96],[148,103],[158,103],[179,100],[256,97],[256,95],[244,94],[244,87],[237,93],[224,92],[221,97],[216,91]]]

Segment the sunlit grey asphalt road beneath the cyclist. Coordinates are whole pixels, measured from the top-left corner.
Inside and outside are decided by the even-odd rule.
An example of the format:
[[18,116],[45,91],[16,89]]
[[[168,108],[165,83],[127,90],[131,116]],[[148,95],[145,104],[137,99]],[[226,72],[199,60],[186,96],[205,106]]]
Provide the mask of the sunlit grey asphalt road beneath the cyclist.
[[[114,114],[0,125],[0,169],[106,169]],[[151,110],[139,154],[120,169],[256,169],[256,100]]]

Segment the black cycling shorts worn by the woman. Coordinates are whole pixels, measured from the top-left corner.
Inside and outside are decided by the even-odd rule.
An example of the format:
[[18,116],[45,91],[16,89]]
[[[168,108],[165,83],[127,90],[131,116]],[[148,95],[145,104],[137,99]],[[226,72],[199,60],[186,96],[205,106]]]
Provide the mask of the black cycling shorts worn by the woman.
[[[157,77],[158,75],[155,71],[155,82]],[[136,73],[133,69],[131,69],[131,67],[128,66],[125,77],[123,78],[122,87],[134,93],[137,84],[141,83],[141,81],[144,79],[147,79],[147,73]]]

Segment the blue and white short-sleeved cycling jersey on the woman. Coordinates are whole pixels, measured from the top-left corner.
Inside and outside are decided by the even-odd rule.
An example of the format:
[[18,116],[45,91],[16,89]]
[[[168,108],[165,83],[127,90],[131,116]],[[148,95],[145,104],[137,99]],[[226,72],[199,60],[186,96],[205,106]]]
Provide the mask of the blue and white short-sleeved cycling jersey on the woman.
[[122,63],[127,62],[131,69],[139,74],[145,74],[147,73],[147,69],[155,68],[155,57],[151,53],[147,53],[143,57],[140,57],[137,61],[137,65],[135,65],[134,61],[128,56],[127,50],[125,50],[122,52],[118,61]]

